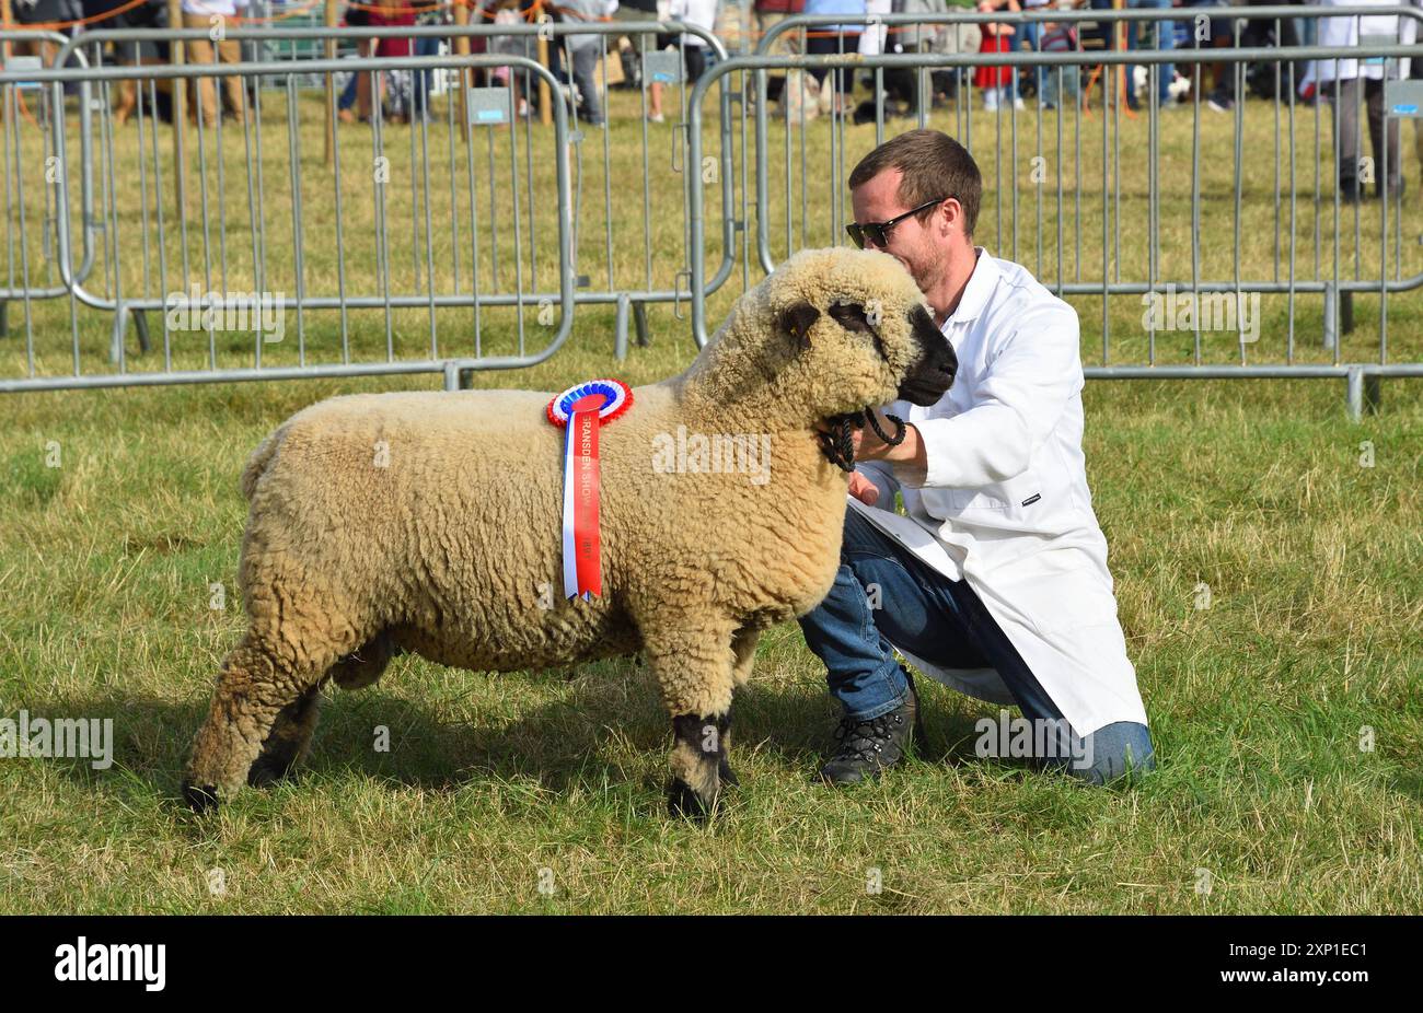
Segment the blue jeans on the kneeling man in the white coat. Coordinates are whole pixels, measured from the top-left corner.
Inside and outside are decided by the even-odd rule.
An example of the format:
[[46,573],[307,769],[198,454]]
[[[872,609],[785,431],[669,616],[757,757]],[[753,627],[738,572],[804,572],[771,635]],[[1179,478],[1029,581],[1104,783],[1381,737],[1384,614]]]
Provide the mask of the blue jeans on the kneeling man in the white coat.
[[[871,596],[878,608],[871,608]],[[996,669],[1023,717],[1060,730],[1052,755],[1090,758],[1066,764],[1074,777],[1106,784],[1128,767],[1155,765],[1144,724],[1117,721],[1077,737],[973,589],[921,562],[854,509],[845,511],[835,583],[800,625],[825,663],[831,696],[850,717],[879,717],[906,700],[909,677],[889,646],[894,640],[942,667]]]

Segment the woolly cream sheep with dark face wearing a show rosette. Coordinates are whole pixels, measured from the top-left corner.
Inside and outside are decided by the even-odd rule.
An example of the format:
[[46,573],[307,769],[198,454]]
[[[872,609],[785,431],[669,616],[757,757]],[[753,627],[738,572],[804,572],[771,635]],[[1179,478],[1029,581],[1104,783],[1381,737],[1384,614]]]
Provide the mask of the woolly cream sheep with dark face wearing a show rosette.
[[[757,637],[814,608],[838,566],[848,477],[817,424],[932,404],[955,368],[892,256],[790,258],[682,376],[633,388],[603,427],[602,595],[569,600],[548,393],[353,394],[299,411],[242,475],[249,627],[222,662],[185,801],[208,811],[287,774],[323,683],[369,686],[400,650],[477,672],[640,652],[672,716],[669,804],[706,815],[736,783],[731,694]],[[707,438],[737,434],[764,467],[704,467]]]

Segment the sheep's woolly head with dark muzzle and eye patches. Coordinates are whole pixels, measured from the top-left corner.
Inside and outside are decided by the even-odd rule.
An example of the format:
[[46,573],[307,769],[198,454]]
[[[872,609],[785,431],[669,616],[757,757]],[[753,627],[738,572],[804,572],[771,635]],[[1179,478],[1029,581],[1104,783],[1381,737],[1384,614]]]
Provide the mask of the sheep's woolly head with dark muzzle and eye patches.
[[904,266],[878,250],[807,250],[768,279],[790,368],[827,418],[895,400],[935,404],[958,359]]

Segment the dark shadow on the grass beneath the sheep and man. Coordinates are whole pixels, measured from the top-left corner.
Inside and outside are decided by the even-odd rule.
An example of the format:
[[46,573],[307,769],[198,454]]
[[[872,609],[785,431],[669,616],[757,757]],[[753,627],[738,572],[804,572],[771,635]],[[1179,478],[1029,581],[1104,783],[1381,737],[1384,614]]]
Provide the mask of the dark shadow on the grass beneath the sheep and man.
[[[935,706],[942,693],[931,694],[918,761],[979,763],[975,718],[945,713]],[[437,792],[481,780],[532,781],[555,794],[605,781],[636,781],[659,797],[663,788],[660,760],[672,747],[670,720],[646,672],[630,660],[571,674],[393,669],[373,687],[327,687],[323,696],[312,751],[295,771],[297,784],[309,775],[329,783],[359,774]],[[206,717],[208,700],[71,694],[26,707],[33,716],[112,717],[112,768],[95,771],[83,758],[50,763],[94,791],[176,804],[188,747]],[[733,767],[737,755],[754,751],[810,778],[834,744],[837,718],[838,706],[822,683],[753,679],[736,697]],[[655,761],[629,768],[630,754]]]

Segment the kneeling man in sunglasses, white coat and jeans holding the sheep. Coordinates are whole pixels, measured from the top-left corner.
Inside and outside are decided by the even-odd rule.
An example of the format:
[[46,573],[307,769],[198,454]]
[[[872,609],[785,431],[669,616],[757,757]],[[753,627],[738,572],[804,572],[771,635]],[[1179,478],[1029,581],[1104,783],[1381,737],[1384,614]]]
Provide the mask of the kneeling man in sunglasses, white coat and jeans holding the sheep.
[[[1148,770],[1146,710],[1087,491],[1076,312],[973,246],[982,176],[948,135],[882,144],[850,189],[852,238],[909,270],[959,371],[931,408],[889,405],[906,423],[898,445],[869,427],[854,440],[841,566],[801,619],[845,709],[821,777],[874,777],[909,746],[918,700],[894,647],[970,696],[1016,703],[1037,760],[1097,784]],[[871,509],[892,511],[895,488],[906,518]],[[1019,755],[1027,737],[985,738],[986,754]]]

